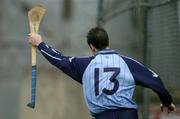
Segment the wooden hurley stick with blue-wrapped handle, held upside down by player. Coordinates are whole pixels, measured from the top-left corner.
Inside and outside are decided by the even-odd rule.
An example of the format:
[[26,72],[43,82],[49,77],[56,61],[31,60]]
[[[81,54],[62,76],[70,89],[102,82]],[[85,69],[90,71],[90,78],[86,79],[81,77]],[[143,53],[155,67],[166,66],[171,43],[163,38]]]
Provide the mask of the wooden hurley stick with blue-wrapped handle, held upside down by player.
[[[45,8],[35,6],[28,11],[28,20],[31,33],[38,33],[39,25],[45,14]],[[34,108],[36,102],[36,47],[31,46],[31,62],[32,62],[32,80],[31,80],[31,102],[28,107]]]

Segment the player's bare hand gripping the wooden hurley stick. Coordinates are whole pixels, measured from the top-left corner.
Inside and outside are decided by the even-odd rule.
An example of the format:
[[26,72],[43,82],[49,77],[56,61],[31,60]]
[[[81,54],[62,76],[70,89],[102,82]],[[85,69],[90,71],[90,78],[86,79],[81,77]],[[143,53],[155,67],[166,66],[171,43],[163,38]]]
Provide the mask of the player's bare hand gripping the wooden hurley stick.
[[41,42],[43,42],[41,35],[37,33],[30,33],[28,41],[33,46],[38,46]]

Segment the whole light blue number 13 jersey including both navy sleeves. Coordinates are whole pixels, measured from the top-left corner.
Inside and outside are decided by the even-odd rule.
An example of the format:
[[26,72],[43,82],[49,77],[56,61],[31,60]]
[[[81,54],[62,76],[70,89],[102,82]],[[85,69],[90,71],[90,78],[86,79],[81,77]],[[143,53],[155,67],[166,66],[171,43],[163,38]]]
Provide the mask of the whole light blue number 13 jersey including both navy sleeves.
[[164,106],[172,103],[171,95],[156,73],[114,50],[104,49],[90,57],[70,57],[44,42],[38,49],[51,64],[83,85],[84,97],[93,115],[121,107],[137,109],[132,99],[135,85],[152,89]]

